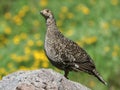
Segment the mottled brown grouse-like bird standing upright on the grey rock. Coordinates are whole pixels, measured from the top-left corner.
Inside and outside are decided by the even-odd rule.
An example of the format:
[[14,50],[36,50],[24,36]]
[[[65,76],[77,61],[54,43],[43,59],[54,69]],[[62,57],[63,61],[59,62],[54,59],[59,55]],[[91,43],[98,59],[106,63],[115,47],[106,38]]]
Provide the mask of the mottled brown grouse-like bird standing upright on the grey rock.
[[107,82],[97,72],[96,66],[88,53],[59,31],[52,11],[43,9],[40,14],[45,18],[47,29],[44,51],[52,65],[63,70],[67,79],[70,71],[83,71],[95,76],[103,84],[107,85]]

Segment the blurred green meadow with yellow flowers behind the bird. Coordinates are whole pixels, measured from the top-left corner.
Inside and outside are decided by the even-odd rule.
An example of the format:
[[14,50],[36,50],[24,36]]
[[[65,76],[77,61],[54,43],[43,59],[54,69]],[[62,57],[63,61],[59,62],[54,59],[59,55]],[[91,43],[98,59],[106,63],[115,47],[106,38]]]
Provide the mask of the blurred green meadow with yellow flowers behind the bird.
[[71,72],[70,80],[92,90],[119,90],[120,0],[0,0],[0,79],[40,68],[63,74],[44,54],[44,8],[54,13],[59,30],[89,53],[108,86],[83,72]]

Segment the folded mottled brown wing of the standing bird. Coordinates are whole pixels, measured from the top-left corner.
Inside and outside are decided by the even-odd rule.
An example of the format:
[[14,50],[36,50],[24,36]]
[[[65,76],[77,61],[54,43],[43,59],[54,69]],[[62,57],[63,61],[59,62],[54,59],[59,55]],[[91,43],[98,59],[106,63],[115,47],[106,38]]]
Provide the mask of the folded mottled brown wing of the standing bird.
[[59,53],[66,65],[71,65],[75,71],[81,70],[92,74],[91,71],[95,69],[95,65],[84,49],[65,37],[62,38],[60,44],[59,47],[61,47],[61,50],[59,50]]

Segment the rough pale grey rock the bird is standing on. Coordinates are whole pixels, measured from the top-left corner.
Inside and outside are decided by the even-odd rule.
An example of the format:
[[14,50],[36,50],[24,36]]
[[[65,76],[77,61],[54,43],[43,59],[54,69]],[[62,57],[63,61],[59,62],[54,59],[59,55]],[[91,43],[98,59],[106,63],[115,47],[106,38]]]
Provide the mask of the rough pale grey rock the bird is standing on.
[[90,90],[51,70],[18,71],[0,81],[0,90]]

